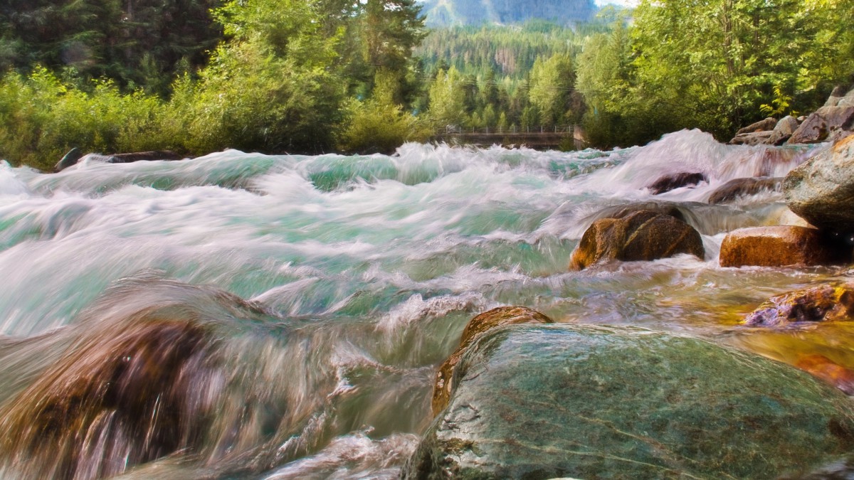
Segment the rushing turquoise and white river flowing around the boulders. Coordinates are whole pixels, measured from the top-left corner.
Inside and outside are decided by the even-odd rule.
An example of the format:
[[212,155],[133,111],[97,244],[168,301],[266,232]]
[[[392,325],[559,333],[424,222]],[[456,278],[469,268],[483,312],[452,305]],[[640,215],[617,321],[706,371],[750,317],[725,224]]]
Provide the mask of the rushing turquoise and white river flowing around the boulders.
[[[738,325],[769,296],[850,272],[717,262],[727,231],[799,220],[779,193],[709,205],[711,192],[812,151],[692,131],[610,152],[3,164],[0,428],[15,440],[0,442],[0,477],[396,477],[430,421],[436,366],[500,305],[854,366],[844,326]],[[679,172],[709,181],[644,188]],[[704,259],[568,271],[598,212],[653,200],[681,208]]]

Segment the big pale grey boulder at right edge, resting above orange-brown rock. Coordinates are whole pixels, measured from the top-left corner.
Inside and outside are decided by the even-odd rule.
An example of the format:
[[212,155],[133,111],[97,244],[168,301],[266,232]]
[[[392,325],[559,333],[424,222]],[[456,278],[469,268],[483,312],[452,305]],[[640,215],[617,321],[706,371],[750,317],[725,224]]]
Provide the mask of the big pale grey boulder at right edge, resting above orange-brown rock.
[[783,180],[783,195],[810,224],[854,231],[854,135],[793,168]]

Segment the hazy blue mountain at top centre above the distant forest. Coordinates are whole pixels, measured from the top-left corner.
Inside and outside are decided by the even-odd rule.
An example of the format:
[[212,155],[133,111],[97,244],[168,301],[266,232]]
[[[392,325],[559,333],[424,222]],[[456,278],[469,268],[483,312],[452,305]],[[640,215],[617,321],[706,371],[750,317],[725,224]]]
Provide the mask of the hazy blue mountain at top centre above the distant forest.
[[561,25],[587,21],[596,13],[594,0],[427,0],[427,26],[508,25],[530,19],[549,20]]

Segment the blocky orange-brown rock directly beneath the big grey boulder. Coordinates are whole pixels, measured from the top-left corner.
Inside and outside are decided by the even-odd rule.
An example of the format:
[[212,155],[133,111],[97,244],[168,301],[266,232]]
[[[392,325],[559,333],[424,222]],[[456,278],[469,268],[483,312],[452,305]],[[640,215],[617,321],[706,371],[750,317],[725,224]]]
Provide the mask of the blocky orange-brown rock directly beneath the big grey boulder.
[[721,244],[721,266],[815,266],[851,260],[851,249],[815,228],[757,226],[731,231]]

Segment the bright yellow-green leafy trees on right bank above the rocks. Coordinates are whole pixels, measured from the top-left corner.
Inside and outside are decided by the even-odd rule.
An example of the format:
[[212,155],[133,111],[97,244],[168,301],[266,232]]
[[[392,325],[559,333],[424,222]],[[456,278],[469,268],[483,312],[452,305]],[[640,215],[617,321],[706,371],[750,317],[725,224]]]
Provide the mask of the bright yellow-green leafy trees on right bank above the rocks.
[[579,60],[588,135],[625,145],[697,127],[727,139],[764,114],[817,108],[854,72],[837,53],[852,48],[850,29],[839,27],[852,6],[641,0],[631,27],[590,38]]

